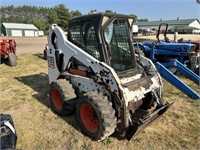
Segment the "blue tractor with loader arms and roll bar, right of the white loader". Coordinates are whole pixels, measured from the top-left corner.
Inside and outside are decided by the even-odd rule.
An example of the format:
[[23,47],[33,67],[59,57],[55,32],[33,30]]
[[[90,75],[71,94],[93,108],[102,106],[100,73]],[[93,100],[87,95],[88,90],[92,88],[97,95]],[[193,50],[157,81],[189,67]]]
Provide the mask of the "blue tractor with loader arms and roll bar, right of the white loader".
[[190,98],[200,100],[199,94],[192,90],[174,74],[176,71],[178,71],[179,73],[187,76],[196,84],[200,84],[200,54],[199,51],[196,51],[195,49],[196,45],[191,43],[169,42],[169,39],[166,36],[166,31],[168,28],[167,24],[165,24],[166,31],[164,33],[164,41],[160,41],[159,35],[161,25],[158,29],[156,42],[146,42],[144,44],[135,43],[134,47],[142,50],[144,55],[154,62],[160,75],[165,80]]

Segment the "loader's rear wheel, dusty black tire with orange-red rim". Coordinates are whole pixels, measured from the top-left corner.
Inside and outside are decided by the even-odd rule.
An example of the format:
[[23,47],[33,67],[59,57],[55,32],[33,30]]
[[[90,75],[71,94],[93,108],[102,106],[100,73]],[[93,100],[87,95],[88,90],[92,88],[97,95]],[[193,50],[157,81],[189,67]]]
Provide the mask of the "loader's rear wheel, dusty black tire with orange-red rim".
[[70,115],[76,109],[76,95],[72,85],[66,79],[59,79],[50,85],[52,109],[60,116]]

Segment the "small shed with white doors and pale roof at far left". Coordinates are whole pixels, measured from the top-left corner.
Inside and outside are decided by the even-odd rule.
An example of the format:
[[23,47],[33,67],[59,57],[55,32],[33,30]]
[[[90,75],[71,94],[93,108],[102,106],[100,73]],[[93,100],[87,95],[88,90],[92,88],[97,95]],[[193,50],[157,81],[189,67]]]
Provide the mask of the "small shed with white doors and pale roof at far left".
[[38,28],[33,24],[2,23],[1,34],[4,36],[38,36]]

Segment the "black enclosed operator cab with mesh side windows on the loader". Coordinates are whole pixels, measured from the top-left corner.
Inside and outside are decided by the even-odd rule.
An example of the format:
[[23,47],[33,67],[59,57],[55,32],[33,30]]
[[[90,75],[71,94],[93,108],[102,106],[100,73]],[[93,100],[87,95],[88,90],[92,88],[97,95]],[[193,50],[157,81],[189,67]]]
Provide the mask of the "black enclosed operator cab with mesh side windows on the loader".
[[133,18],[99,13],[69,21],[68,40],[119,74],[136,69],[130,27]]

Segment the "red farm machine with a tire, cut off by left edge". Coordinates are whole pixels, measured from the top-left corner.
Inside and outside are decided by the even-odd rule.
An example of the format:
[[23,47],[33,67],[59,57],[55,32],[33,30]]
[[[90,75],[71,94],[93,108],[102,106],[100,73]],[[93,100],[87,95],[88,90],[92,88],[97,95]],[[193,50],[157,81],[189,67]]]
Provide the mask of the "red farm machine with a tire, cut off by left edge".
[[1,63],[8,66],[17,66],[16,42],[14,39],[0,38]]

